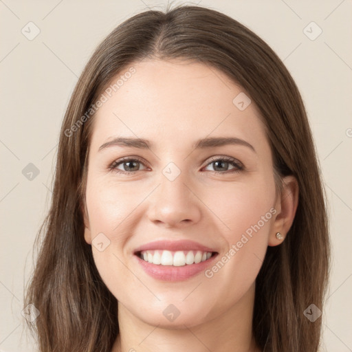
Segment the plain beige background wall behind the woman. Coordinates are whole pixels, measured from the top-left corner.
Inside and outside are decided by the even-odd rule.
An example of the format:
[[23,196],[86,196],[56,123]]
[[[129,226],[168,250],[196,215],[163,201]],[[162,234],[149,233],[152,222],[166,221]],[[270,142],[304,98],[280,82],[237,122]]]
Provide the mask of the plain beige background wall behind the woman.
[[[352,351],[352,1],[194,3],[220,10],[259,34],[303,95],[331,213],[333,267],[322,351]],[[58,131],[77,78],[116,25],[148,7],[165,5],[152,0],[0,0],[0,351],[33,349],[23,333],[23,287],[51,197]],[[30,21],[41,31],[31,41],[21,32],[29,32]],[[311,21],[322,29],[314,41],[303,32]],[[22,173],[29,163],[39,169],[32,180]]]

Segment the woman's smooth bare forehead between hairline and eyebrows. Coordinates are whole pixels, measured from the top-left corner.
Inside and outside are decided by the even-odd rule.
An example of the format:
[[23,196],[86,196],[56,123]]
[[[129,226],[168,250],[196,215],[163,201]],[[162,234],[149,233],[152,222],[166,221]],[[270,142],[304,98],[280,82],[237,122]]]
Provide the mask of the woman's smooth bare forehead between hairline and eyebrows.
[[166,143],[180,146],[180,142],[191,146],[208,135],[239,137],[257,145],[266,140],[254,102],[239,109],[243,107],[239,100],[250,101],[245,91],[203,63],[133,63],[102,94],[107,99],[94,116],[92,145],[113,136],[144,137],[161,148]]

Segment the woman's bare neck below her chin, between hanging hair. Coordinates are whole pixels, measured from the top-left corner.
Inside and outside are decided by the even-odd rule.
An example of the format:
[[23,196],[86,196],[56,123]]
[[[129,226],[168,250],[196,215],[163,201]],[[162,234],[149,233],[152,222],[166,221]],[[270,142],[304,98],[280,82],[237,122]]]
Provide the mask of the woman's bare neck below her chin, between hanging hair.
[[252,336],[254,285],[236,305],[188,327],[149,325],[118,303],[120,333],[111,352],[260,352]]

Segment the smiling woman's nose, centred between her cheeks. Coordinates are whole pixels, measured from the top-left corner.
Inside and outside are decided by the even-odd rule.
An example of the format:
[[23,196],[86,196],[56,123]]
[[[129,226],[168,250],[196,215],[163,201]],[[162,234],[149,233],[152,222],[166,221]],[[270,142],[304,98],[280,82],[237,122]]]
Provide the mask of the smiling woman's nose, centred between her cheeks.
[[183,228],[197,223],[201,219],[201,197],[197,197],[188,184],[182,173],[173,181],[163,175],[149,199],[150,221],[166,228]]

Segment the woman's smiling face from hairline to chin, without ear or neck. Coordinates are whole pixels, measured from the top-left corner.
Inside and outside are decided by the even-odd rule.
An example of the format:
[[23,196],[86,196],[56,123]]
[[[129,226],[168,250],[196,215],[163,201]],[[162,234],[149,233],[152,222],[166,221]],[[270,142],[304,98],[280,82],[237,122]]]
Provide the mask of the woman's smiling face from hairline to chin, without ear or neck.
[[[254,292],[274,232],[272,153],[254,102],[217,69],[186,61],[131,66],[94,117],[85,240],[102,280],[135,318],[191,327]],[[147,263],[135,252],[155,241],[164,242],[149,245],[154,264]],[[196,263],[184,265],[188,252]],[[157,264],[162,257],[166,265]],[[171,321],[170,313],[179,316]]]

